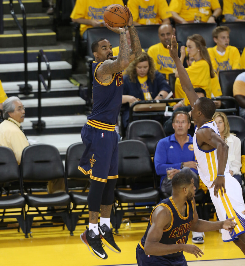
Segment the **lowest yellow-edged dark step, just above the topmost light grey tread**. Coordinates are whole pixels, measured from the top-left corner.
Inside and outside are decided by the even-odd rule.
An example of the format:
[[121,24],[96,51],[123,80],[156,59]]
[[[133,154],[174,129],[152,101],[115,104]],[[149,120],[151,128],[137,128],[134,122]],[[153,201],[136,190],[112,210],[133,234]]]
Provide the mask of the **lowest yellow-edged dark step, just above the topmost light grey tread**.
[[[49,61],[72,60],[72,41],[57,42],[50,46],[29,46],[27,49],[28,62],[37,62],[38,53],[42,49]],[[0,48],[1,64],[24,63],[23,47]]]

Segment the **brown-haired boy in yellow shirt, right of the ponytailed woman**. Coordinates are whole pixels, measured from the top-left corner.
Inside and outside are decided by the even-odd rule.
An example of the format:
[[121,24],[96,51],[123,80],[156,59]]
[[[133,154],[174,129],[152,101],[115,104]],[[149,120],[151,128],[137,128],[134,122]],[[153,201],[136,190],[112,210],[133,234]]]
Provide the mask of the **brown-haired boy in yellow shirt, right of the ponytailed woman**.
[[213,29],[214,47],[209,47],[208,52],[212,66],[217,74],[223,70],[241,69],[241,56],[239,50],[230,43],[230,29],[219,26]]

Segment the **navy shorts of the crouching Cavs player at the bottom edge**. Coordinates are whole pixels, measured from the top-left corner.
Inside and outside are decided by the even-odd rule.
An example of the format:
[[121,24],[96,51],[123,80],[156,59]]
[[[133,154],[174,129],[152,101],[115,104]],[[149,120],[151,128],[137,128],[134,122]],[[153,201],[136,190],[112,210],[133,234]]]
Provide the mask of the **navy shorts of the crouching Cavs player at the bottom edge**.
[[169,258],[164,256],[146,255],[145,251],[139,244],[136,248],[136,260],[138,266],[187,266],[187,261],[183,254]]

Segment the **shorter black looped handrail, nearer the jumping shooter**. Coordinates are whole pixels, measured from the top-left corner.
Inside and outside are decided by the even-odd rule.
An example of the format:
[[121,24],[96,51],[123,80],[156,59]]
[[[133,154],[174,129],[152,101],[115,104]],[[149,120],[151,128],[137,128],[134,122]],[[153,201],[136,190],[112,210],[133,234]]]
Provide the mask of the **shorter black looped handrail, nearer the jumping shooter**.
[[[47,66],[47,81],[48,84],[46,84],[43,74],[42,74],[42,69],[41,69],[41,62],[45,62]],[[50,68],[50,63],[47,59],[46,54],[43,52],[43,50],[40,50],[38,53],[38,121],[33,121],[32,122],[32,127],[37,129],[39,133],[41,133],[42,129],[45,127],[45,122],[41,120],[42,117],[42,106],[41,106],[41,83],[43,84],[46,92],[50,92],[51,90],[51,68]]]

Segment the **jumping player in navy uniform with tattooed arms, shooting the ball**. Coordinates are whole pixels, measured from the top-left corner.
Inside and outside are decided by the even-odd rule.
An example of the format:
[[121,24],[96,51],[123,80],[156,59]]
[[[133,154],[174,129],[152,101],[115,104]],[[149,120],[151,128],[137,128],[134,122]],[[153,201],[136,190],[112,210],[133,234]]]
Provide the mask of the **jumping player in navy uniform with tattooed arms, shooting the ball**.
[[80,237],[92,255],[99,259],[108,257],[103,248],[104,244],[115,252],[121,252],[114,241],[110,225],[114,189],[118,178],[118,136],[115,124],[122,104],[122,70],[141,54],[132,14],[127,6],[125,8],[129,14],[127,26],[132,50],[128,47],[125,29],[112,28],[105,23],[109,30],[119,34],[119,54],[117,59],[113,60],[112,45],[104,38],[92,43],[91,49],[95,58],[92,63],[93,108],[88,122],[81,130],[86,149],[78,169],[90,175],[91,184],[88,194],[89,228]]

